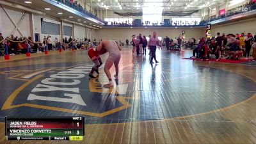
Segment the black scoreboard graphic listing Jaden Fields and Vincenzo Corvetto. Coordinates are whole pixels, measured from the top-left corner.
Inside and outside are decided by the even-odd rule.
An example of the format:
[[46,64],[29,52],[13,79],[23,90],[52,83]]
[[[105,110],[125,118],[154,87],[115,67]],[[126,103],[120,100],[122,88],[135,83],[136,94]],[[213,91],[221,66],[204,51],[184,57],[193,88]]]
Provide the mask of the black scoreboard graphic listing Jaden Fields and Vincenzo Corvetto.
[[84,117],[6,117],[7,140],[83,140]]

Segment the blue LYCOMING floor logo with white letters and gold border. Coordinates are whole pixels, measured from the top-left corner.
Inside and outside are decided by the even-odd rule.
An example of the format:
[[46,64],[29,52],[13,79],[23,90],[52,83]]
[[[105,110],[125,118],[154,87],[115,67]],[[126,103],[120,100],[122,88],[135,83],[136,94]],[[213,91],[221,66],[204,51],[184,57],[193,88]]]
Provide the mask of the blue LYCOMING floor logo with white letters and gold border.
[[35,111],[56,111],[57,114],[61,111],[71,115],[104,117],[129,108],[128,100],[132,98],[126,95],[128,84],[104,88],[102,84],[108,79],[103,70],[97,79],[89,79],[92,66],[1,72],[10,75],[9,79],[24,81],[6,99],[1,110],[29,107]]

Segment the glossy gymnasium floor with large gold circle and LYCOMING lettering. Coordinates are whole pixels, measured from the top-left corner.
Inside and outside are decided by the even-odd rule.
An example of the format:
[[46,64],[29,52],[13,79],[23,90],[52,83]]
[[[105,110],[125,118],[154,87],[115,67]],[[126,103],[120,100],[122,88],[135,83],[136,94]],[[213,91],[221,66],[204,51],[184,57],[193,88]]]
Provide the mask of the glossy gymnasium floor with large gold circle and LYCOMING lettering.
[[[87,51],[1,57],[0,143],[256,143],[256,62],[182,59],[189,56],[158,50],[159,64],[151,66],[148,54],[132,56],[124,48],[120,79],[110,89],[102,88],[103,68],[89,79]],[[64,86],[70,83],[60,77],[65,72],[79,73],[81,83]],[[59,85],[45,83],[52,77]],[[70,94],[78,96],[67,100]],[[4,137],[4,116],[78,115],[86,118],[83,141]]]

